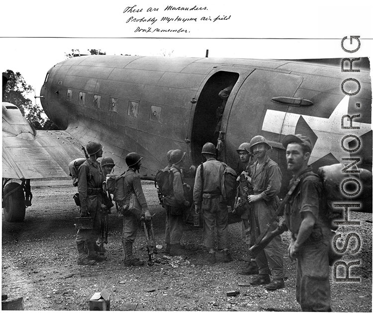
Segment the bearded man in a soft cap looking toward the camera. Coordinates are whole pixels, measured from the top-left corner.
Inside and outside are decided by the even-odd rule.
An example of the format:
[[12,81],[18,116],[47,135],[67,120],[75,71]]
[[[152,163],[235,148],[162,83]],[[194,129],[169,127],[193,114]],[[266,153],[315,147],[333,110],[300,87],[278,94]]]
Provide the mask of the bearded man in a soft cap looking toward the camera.
[[293,173],[290,186],[300,179],[284,210],[291,232],[287,252],[291,260],[297,259],[296,301],[302,311],[330,312],[330,228],[321,220],[321,180],[310,175],[312,168],[307,165],[312,144],[308,137],[287,135],[282,145],[287,169]]

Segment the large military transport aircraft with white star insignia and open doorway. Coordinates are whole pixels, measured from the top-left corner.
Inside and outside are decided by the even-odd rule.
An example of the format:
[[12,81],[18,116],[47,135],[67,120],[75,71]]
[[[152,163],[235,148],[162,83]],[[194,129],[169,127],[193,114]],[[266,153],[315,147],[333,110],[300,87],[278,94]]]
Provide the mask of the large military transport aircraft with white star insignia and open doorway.
[[[359,64],[355,61],[354,68]],[[360,82],[353,96],[341,90],[343,80],[351,77]],[[223,107],[218,94],[230,85]],[[351,81],[344,85],[347,92],[356,89]],[[344,157],[359,157],[359,167],[372,169],[369,68],[344,73],[340,61],[335,66],[316,61],[82,56],[52,67],[40,97],[61,131],[35,131],[15,105],[2,104],[3,207],[10,222],[24,219],[30,179],[68,177],[69,162],[84,157],[82,146],[92,140],[104,146],[103,156],[114,159],[117,174],[126,169],[127,153],[139,153],[144,178],[154,177],[167,164],[170,149],[187,152],[187,163],[197,165],[206,142],[217,145],[219,159],[241,172],[237,147],[263,135],[287,182],[290,173],[281,140],[298,133],[314,144],[310,164],[315,169]],[[341,128],[341,120],[350,126],[346,115],[360,115],[352,124],[359,129]],[[342,138],[350,134],[360,140],[354,153],[346,152],[358,145],[353,138],[341,147]],[[281,195],[286,186],[283,183]],[[368,193],[369,203],[371,196]]]

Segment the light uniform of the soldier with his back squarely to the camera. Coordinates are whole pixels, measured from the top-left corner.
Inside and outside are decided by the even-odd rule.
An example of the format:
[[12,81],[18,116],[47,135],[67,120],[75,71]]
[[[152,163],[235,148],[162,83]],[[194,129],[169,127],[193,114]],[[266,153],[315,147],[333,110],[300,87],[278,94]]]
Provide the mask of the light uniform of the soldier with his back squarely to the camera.
[[[203,186],[201,183],[201,165],[197,167],[193,200],[201,204],[203,212],[204,246],[215,247],[214,230],[216,226],[217,248],[228,249],[228,209],[222,201],[221,177],[223,175],[223,163],[216,159],[209,159],[203,163]],[[201,199],[201,190],[202,199]]]

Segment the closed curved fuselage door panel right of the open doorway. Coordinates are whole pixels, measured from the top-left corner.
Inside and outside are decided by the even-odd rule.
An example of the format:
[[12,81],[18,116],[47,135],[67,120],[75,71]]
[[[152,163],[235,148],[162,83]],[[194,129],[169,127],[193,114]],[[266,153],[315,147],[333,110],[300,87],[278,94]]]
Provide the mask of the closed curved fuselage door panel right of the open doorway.
[[[222,130],[225,128],[225,161],[235,165],[238,162],[237,147],[250,142],[256,135],[262,135],[272,142],[274,150],[270,157],[278,161],[280,132],[268,129],[266,123],[282,127],[284,112],[288,105],[275,103],[274,97],[292,97],[302,82],[302,77],[287,73],[256,69],[242,83],[232,102],[230,111],[225,112]],[[268,110],[278,111],[272,119],[266,118]],[[279,148],[279,149],[276,149]]]

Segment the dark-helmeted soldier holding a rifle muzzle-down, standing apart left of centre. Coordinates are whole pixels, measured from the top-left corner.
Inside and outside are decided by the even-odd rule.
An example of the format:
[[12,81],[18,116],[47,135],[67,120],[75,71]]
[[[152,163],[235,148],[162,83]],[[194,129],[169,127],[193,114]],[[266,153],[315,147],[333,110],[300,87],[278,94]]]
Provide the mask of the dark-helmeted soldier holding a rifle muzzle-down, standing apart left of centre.
[[128,212],[128,209],[125,210],[123,206],[121,206],[121,211],[123,215],[123,249],[124,249],[124,264],[125,266],[141,266],[144,265],[144,261],[133,256],[132,246],[133,242],[136,239],[137,231],[139,228],[139,216],[145,215],[146,220],[151,219],[151,214],[148,209],[148,205],[145,200],[145,195],[142,190],[140,177],[136,174],[136,171],[140,169],[141,166],[141,159],[137,153],[131,152],[129,153],[125,160],[128,165],[128,169],[124,174],[124,194],[127,195],[125,204],[128,204],[130,199],[130,195],[132,193],[135,194],[135,203],[138,205],[138,210],[140,211],[139,215],[136,215],[132,212]]

